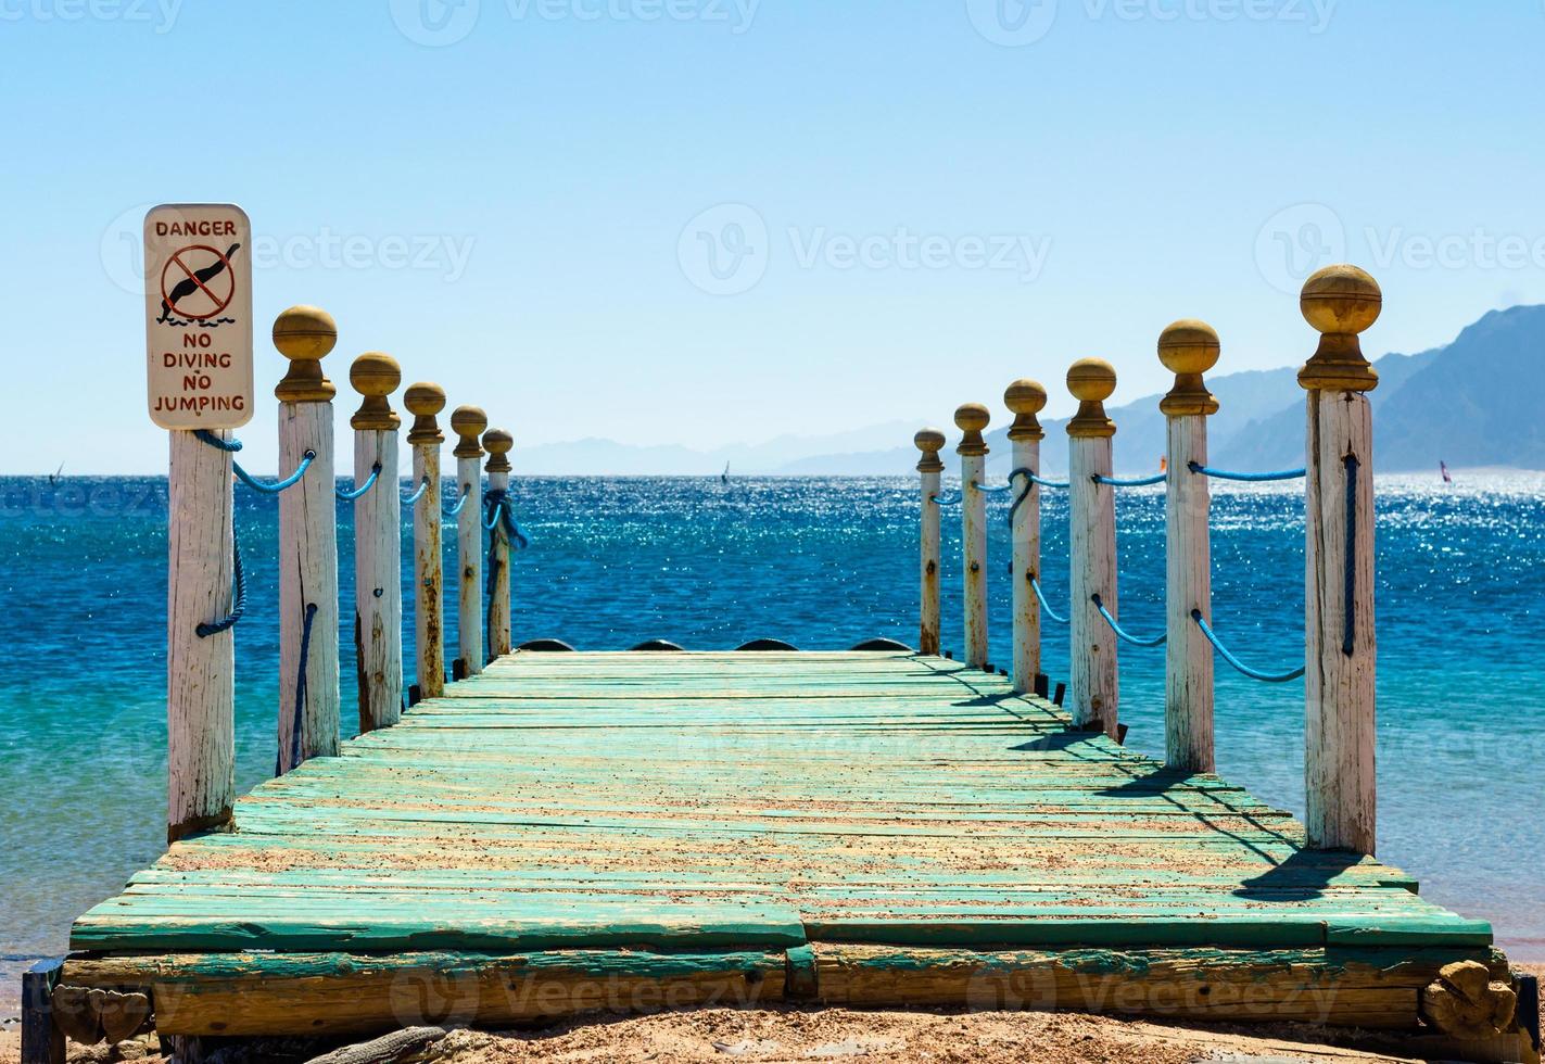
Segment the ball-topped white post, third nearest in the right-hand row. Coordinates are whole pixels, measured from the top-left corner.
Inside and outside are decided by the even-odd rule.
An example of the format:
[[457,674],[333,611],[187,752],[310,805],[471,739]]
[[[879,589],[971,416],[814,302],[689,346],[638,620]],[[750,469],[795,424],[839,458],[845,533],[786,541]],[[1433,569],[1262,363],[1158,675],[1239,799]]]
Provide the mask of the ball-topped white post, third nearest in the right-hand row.
[[1068,391],[1078,412],[1068,422],[1068,554],[1072,565],[1069,692],[1072,721],[1089,730],[1117,735],[1120,679],[1115,633],[1094,605],[1098,595],[1114,616],[1115,496],[1095,477],[1111,476],[1111,437],[1115,423],[1105,415],[1105,400],[1115,391],[1115,369],[1098,358],[1080,358],[1068,371]]

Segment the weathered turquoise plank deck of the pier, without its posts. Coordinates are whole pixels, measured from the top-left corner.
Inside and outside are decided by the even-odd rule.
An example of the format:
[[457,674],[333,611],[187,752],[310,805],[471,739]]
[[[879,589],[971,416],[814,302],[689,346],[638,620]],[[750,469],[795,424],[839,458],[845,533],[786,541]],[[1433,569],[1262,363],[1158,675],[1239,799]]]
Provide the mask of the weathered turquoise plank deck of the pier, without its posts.
[[[1134,737],[1139,740],[1142,737]],[[1491,928],[1007,679],[530,653],[256,788],[76,923],[171,1035],[799,1001],[1409,1028]]]

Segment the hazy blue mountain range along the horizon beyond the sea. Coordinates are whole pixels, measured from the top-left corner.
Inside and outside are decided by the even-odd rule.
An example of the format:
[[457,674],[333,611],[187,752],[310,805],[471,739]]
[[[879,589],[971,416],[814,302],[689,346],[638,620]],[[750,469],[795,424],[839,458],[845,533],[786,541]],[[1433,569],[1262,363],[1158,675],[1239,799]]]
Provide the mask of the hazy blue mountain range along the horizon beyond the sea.
[[[1545,306],[1492,310],[1454,343],[1415,355],[1378,358],[1374,462],[1389,473],[1516,466],[1545,469]],[[1046,381],[1052,385],[1054,381]],[[1210,451],[1236,469],[1302,465],[1304,400],[1298,366],[1210,377],[1219,411],[1208,425]],[[1165,451],[1159,395],[1109,408],[1115,420],[1115,469],[1153,473]],[[1044,420],[1043,469],[1066,471],[1066,422]],[[891,422],[827,437],[779,437],[717,451],[629,446],[610,440],[536,446],[521,454],[522,473],[612,476],[706,476],[729,463],[739,474],[887,476],[912,473],[915,422]],[[1009,469],[1007,426],[989,432],[989,471]],[[953,440],[952,440],[953,445]]]

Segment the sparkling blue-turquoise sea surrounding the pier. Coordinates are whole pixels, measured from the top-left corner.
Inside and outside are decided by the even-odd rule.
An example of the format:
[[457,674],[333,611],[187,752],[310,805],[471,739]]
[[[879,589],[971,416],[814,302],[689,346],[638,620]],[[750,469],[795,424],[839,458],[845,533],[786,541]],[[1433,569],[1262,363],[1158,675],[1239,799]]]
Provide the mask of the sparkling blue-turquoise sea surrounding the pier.
[[[1214,499],[1216,629],[1265,669],[1302,662],[1301,491],[1219,486]],[[1491,919],[1516,959],[1542,961],[1545,474],[1460,474],[1454,486],[1435,476],[1386,476],[1377,493],[1380,856],[1417,874],[1426,897]],[[652,638],[688,649],[752,638],[802,649],[874,636],[916,642],[912,479],[533,479],[518,482],[516,496],[533,539],[514,568],[516,642],[552,636],[596,650]],[[252,579],[250,613],[236,630],[244,791],[273,769],[278,508],[244,488],[236,500]],[[990,505],[990,551],[1006,561],[1007,502]],[[352,601],[351,511],[338,507],[345,602]],[[1061,604],[1058,499],[1048,499],[1043,520],[1044,584]],[[1123,491],[1119,527],[1122,621],[1157,632],[1160,490]],[[0,479],[0,1001],[14,1002],[25,959],[60,953],[71,920],[164,848],[165,482]],[[958,557],[950,519],[944,642],[956,650]],[[998,574],[993,656],[1007,662],[1009,581],[998,562],[989,571]],[[352,610],[343,613],[348,726]],[[450,647],[454,621],[448,608]],[[1054,679],[1066,676],[1063,632],[1048,625]],[[409,673],[411,659],[409,649]],[[1217,676],[1221,772],[1301,812],[1302,684],[1259,684],[1222,662]],[[1128,746],[1162,755],[1162,652],[1125,647]]]

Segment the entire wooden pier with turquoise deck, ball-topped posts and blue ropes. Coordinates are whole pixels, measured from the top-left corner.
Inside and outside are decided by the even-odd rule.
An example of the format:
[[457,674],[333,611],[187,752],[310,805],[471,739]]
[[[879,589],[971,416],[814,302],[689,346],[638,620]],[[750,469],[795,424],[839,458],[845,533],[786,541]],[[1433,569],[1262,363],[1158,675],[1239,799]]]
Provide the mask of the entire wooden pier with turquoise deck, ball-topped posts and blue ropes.
[[[158,210],[244,219],[221,207]],[[363,398],[355,483],[338,486],[335,389],[321,369],[337,326],[317,307],[286,310],[273,327],[290,361],[277,389],[283,480],[261,483],[235,463],[230,431],[244,417],[167,425],[171,845],[76,922],[63,964],[28,976],[25,1064],[62,1064],[66,1035],[117,1041],[147,1022],[188,1039],[179,1058],[196,1064],[198,1039],[218,1036],[780,1002],[1307,1021],[1420,1035],[1423,1052],[1451,1058],[1537,1061],[1537,990],[1492,950],[1491,927],[1423,902],[1409,876],[1374,859],[1366,392],[1377,375],[1358,335],[1381,306],[1374,278],[1350,266],[1304,287],[1319,349],[1299,374],[1302,469],[1208,465],[1217,405],[1204,374],[1221,344],[1197,320],[1159,340],[1176,385],[1160,405],[1170,434],[1157,476],[1112,476],[1105,400],[1117,378],[1105,361],[1068,372],[1080,403],[1068,482],[1040,476],[1038,381],[1004,395],[1015,415],[1007,485],[984,482],[989,408],[959,406],[952,500],[944,432],[915,437],[919,652],[806,653],[516,649],[511,565],[530,539],[514,516],[511,434],[488,429],[477,406],[456,408],[448,502],[447,394],[409,386],[414,473],[400,497],[389,395],[402,374],[368,352],[351,371]],[[232,629],[247,602],[232,473],[256,491],[301,485],[280,517],[277,778],[244,798]],[[1306,482],[1301,669],[1244,664],[1211,629],[1213,479]],[[1166,629],[1139,638],[1120,622],[1115,491],[1159,483]],[[1069,493],[1068,616],[1040,584],[1043,488]],[[987,497],[998,493],[1012,497],[1014,536],[1004,675],[987,662]],[[354,505],[354,740],[338,724],[334,497]],[[958,561],[941,554],[950,505]],[[413,686],[400,593],[408,507]],[[454,661],[442,616],[448,527]],[[964,591],[961,662],[938,656],[946,565]],[[1038,672],[1043,613],[1068,625],[1066,712],[1063,684],[1049,701]],[[1163,732],[1132,743],[1162,749],[1162,761],[1125,746],[1122,642],[1165,647]],[[1304,826],[1213,772],[1227,741],[1213,734],[1214,652],[1261,683],[1304,678]]]

